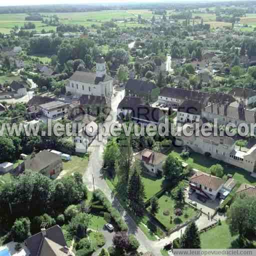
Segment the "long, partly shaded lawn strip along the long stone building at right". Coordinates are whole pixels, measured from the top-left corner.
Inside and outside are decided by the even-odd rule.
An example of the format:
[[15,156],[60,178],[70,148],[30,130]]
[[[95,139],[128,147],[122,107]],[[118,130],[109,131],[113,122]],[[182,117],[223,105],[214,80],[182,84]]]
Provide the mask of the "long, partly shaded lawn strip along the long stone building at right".
[[177,156],[182,161],[188,163],[192,168],[195,168],[207,173],[210,173],[209,168],[211,165],[219,163],[224,168],[224,174],[232,174],[233,178],[237,182],[256,185],[256,179],[251,177],[249,172],[247,172],[244,169],[235,167],[223,161],[219,161],[217,159],[213,159],[211,157],[208,157],[196,152],[192,152],[188,158],[182,159],[179,155],[180,152],[181,152],[181,149],[179,147],[173,147],[173,150],[170,153],[174,156]]

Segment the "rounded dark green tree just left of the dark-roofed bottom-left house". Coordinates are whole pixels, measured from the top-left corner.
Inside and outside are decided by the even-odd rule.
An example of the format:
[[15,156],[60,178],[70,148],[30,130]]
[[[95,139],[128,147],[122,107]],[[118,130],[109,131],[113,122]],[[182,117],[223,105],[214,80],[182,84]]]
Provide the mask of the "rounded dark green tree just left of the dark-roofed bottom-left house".
[[30,221],[28,218],[16,219],[11,227],[11,236],[15,242],[23,242],[30,236]]

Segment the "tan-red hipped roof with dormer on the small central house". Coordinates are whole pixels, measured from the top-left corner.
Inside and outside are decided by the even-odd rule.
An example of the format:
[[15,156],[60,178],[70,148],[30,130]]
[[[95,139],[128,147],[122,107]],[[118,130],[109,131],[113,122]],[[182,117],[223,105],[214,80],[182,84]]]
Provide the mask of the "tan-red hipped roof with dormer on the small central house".
[[136,153],[135,157],[138,160],[145,161],[148,164],[156,165],[165,161],[167,155],[145,148],[142,151]]

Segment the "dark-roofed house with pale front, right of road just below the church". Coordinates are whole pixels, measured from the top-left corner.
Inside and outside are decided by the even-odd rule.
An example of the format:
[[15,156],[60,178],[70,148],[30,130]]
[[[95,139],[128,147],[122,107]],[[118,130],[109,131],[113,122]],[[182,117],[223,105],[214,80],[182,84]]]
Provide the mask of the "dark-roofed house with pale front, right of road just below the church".
[[135,111],[134,109],[137,108],[137,106],[140,104],[143,104],[142,98],[124,96],[117,106],[117,117],[123,117],[127,114],[130,114],[132,116]]

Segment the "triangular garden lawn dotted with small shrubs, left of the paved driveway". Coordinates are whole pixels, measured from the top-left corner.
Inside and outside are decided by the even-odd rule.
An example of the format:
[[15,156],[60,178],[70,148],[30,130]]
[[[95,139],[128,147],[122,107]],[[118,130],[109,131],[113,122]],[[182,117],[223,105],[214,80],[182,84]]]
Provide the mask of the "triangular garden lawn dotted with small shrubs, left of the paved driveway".
[[[158,203],[159,203],[159,210],[155,214],[155,217],[166,227],[167,230],[173,228],[176,224],[180,224],[187,221],[188,219],[194,217],[197,213],[196,209],[189,207],[187,204],[184,204],[184,206],[187,208],[186,213],[188,216],[187,217],[184,216],[185,215],[184,208],[182,209],[182,215],[176,216],[174,213],[175,201],[167,195],[162,195],[158,199]],[[169,211],[169,214],[167,216],[163,214],[164,210]],[[172,216],[171,223],[170,223],[170,216]]]

